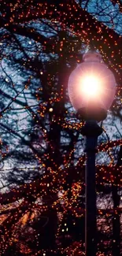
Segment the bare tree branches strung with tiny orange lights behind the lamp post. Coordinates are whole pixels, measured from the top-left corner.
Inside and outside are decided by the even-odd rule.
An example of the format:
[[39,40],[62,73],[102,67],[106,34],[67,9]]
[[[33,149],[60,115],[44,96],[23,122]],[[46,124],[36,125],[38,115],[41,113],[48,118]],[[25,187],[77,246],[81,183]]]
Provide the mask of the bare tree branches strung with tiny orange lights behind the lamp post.
[[[109,63],[118,84],[107,132],[98,146],[98,253],[113,250],[116,255],[118,243],[120,247],[114,227],[121,214],[116,199],[121,189],[121,167],[116,168],[121,144],[121,16],[113,1],[106,1],[105,8],[101,1],[79,4],[1,2],[1,171],[3,187],[9,189],[1,195],[4,256],[83,253],[83,121],[69,103],[67,83],[83,51],[93,46]],[[109,17],[107,6],[113,7]],[[119,231],[120,224],[117,227]]]

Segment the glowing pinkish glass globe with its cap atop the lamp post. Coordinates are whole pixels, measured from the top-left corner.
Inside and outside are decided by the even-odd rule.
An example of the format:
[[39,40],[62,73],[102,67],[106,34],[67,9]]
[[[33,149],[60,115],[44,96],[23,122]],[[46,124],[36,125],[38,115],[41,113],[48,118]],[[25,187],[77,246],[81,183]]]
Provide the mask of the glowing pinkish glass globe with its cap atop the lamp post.
[[[113,103],[116,81],[108,67],[102,62],[101,54],[88,52],[83,55],[83,63],[71,73],[68,80],[68,95],[72,106],[87,113],[107,111]],[[103,120],[105,117],[96,117]]]

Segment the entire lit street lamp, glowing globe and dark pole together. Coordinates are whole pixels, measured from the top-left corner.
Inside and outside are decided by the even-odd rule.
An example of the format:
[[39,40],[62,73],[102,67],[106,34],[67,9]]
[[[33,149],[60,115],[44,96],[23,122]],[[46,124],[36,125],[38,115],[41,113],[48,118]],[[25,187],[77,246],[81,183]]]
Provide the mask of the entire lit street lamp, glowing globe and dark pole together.
[[103,63],[101,54],[89,51],[83,55],[83,62],[71,73],[68,79],[68,95],[79,119],[86,121],[81,133],[86,137],[85,174],[85,251],[86,256],[95,256],[96,243],[96,188],[95,152],[98,136],[102,128],[98,126],[107,116],[113,103],[116,80]]

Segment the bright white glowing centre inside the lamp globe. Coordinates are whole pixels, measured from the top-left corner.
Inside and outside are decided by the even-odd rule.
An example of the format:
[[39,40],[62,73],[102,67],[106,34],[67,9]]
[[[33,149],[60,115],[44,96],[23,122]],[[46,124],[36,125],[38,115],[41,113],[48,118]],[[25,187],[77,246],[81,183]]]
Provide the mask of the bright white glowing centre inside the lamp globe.
[[102,80],[98,76],[87,75],[82,77],[79,87],[83,95],[94,98],[102,93]]

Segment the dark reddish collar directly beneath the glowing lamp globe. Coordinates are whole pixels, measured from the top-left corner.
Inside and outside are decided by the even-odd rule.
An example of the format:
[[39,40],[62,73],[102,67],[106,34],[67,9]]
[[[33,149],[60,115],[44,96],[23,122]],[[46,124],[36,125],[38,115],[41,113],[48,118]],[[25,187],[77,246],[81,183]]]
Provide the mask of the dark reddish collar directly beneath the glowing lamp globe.
[[78,109],[77,117],[81,120],[88,121],[88,120],[95,120],[95,121],[103,121],[107,117],[107,111],[102,108],[95,107],[84,107]]

